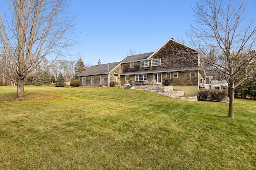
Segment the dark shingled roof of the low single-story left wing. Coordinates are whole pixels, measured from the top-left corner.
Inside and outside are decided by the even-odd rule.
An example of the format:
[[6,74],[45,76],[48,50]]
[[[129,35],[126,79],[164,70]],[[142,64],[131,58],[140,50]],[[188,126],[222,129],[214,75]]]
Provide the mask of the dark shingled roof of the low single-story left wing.
[[[109,64],[109,70],[108,70],[108,64]],[[96,74],[107,74],[111,72],[116,66],[121,64],[121,62],[115,62],[115,63],[108,63],[108,64],[101,64],[96,66],[91,66],[78,74],[78,76],[90,76],[90,75],[96,75]]]

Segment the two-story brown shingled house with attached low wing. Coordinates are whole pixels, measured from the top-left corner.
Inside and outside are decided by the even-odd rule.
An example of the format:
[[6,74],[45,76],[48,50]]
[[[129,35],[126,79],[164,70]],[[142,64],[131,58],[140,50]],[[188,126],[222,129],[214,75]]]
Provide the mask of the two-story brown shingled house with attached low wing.
[[[174,90],[183,90],[185,95],[194,96],[198,94],[200,80],[204,77],[204,68],[199,57],[200,52],[197,49],[169,39],[155,52],[128,56],[122,62],[114,63],[116,65],[111,68],[107,67],[108,64],[102,64],[106,65],[104,69],[102,65],[92,66],[79,74],[79,78],[81,86],[103,84],[102,76],[104,85],[109,85],[113,80],[119,86],[127,82],[135,84],[153,81],[156,85],[173,86]],[[86,80],[90,82],[87,83]]]

